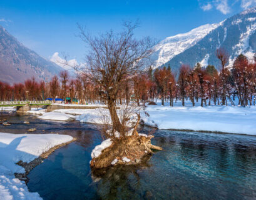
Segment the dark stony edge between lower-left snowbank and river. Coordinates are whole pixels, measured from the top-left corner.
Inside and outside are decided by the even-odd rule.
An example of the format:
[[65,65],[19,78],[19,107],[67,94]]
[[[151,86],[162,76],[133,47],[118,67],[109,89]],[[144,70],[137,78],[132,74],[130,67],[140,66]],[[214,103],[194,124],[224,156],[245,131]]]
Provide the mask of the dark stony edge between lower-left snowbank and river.
[[28,174],[30,173],[30,171],[32,169],[34,169],[39,164],[43,163],[44,159],[48,158],[48,156],[51,155],[54,151],[56,151],[59,148],[62,148],[63,146],[71,144],[74,141],[76,141],[76,138],[73,138],[71,141],[69,141],[67,143],[58,144],[58,145],[54,146],[53,148],[49,149],[48,151],[42,153],[38,158],[34,159],[33,161],[31,161],[29,163],[26,163],[23,161],[18,161],[18,163],[16,163],[16,164],[23,167],[25,169],[25,173],[14,173],[15,178],[18,178],[21,181],[25,181],[25,183],[27,184],[29,181]]

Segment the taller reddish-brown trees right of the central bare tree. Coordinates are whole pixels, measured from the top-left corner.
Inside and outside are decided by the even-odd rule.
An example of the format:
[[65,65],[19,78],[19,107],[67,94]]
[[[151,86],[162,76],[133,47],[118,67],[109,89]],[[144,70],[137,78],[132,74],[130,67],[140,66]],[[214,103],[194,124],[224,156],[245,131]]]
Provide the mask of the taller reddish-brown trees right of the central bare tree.
[[228,105],[233,106],[235,98],[238,105],[255,105],[256,93],[256,57],[250,63],[248,58],[240,54],[234,61],[231,69],[226,68],[228,54],[223,49],[216,52],[220,60],[220,69],[208,65],[203,68],[197,63],[194,68],[182,64],[178,74],[168,68],[151,68],[143,76],[133,78],[135,86],[135,98],[139,104],[156,99],[161,99],[161,104],[166,101],[173,106],[173,101],[181,100],[185,106],[185,100],[189,99],[193,106],[200,101],[201,106]]

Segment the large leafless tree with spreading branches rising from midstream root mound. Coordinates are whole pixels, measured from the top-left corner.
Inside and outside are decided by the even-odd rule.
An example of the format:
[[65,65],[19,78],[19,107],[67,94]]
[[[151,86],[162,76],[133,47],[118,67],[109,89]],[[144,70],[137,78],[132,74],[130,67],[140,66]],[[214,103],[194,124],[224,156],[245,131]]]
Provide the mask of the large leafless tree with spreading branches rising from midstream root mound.
[[113,130],[123,136],[125,128],[116,113],[118,91],[121,83],[145,64],[155,45],[150,37],[135,39],[133,31],[136,27],[138,23],[125,22],[124,30],[120,33],[109,31],[94,37],[79,26],[80,37],[90,48],[86,56],[88,77],[99,86],[98,93],[108,104]]

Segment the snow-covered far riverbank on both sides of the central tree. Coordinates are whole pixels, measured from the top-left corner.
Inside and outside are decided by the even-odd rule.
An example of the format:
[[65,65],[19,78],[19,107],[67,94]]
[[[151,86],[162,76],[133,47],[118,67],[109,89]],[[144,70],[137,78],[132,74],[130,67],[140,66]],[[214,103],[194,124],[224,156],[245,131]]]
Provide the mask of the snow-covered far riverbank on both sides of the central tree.
[[[235,104],[237,105],[237,99]],[[145,111],[150,116],[147,116]],[[256,135],[253,125],[256,121],[256,106],[243,108],[231,106],[231,103],[228,102],[228,106],[213,106],[212,103],[212,106],[202,108],[200,101],[195,104],[195,107],[190,101],[186,101],[183,107],[181,101],[177,101],[173,107],[170,107],[169,103],[161,106],[158,101],[157,106],[147,106],[145,111],[141,110],[141,119],[146,125],[156,126],[159,129],[188,129]],[[44,113],[39,118],[59,121],[76,118],[81,123],[111,124],[110,114],[105,108],[57,109],[51,113]]]

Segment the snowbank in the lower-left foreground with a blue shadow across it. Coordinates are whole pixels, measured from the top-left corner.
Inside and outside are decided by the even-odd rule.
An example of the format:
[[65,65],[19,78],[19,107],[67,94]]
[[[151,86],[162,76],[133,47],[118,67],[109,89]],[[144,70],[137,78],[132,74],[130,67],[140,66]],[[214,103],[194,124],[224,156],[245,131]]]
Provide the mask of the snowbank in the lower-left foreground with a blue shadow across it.
[[0,133],[0,199],[41,199],[38,193],[28,191],[24,181],[14,177],[14,173],[25,172],[16,163],[29,163],[50,148],[72,139],[59,134]]

